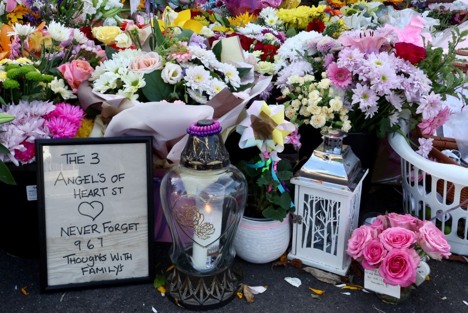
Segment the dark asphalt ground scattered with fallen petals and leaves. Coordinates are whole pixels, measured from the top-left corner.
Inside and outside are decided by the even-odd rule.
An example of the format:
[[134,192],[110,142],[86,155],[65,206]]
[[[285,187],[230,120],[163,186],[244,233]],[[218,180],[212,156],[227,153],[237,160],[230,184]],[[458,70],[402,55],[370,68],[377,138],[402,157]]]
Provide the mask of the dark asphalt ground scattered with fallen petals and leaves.
[[[401,195],[389,185],[373,186],[363,201],[361,214],[366,212],[401,212]],[[170,264],[170,243],[155,243],[157,270]],[[249,286],[268,286],[255,295],[254,303],[245,298],[208,312],[468,312],[468,264],[461,261],[429,261],[430,280],[412,291],[403,304],[382,302],[374,293],[360,290],[342,290],[321,282],[311,274],[288,265],[272,263],[252,264],[239,258],[234,266],[245,274],[239,282]],[[350,271],[352,282],[363,286],[363,278]],[[284,280],[297,277],[301,286],[294,287]],[[21,292],[26,287],[28,295]],[[311,296],[309,288],[322,290],[324,295]],[[343,293],[349,292],[350,295]],[[41,294],[39,288],[39,259],[19,258],[0,250],[0,312],[187,312],[166,296],[162,296],[152,283]]]

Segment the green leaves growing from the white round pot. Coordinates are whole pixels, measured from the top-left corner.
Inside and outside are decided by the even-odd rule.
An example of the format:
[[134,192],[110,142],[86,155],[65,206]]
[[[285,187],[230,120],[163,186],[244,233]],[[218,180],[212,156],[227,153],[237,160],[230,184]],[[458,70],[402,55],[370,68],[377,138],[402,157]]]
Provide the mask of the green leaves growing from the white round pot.
[[278,189],[280,182],[273,179],[271,169],[273,164],[270,164],[268,168],[247,166],[248,164],[256,164],[258,161],[260,161],[260,157],[255,157],[250,162],[241,161],[238,165],[247,179],[249,189],[249,202],[244,214],[253,218],[283,221],[288,213],[294,210],[291,207],[291,195],[287,191],[288,189],[292,190],[290,183],[292,166],[285,160],[280,160],[276,164],[276,176],[287,188],[285,192],[281,193]]

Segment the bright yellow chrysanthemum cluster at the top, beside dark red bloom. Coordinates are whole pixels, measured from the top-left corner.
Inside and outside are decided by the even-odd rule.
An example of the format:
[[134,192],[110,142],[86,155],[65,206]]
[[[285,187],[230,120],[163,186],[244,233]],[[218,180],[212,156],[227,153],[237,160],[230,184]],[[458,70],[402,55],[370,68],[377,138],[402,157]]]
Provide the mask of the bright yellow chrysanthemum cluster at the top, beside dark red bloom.
[[285,23],[298,29],[307,29],[307,25],[315,18],[324,15],[326,5],[315,6],[298,6],[294,9],[279,9],[276,16]]

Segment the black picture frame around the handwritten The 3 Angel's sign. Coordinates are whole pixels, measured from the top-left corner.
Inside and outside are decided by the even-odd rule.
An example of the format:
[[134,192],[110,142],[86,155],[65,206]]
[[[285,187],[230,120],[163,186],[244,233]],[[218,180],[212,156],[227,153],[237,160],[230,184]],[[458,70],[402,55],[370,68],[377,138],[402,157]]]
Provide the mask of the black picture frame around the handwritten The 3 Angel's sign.
[[[101,148],[103,147],[111,147],[111,146],[104,146],[104,145],[117,145],[117,146],[112,146],[114,148],[121,148],[121,151],[125,151],[125,153],[128,153],[130,156],[135,157],[135,151],[132,149],[128,150],[125,148],[128,144],[143,144],[144,145],[144,151],[145,151],[145,161],[144,161],[144,166],[146,166],[144,173],[146,173],[146,178],[141,178],[141,184],[146,183],[146,195],[147,195],[147,210],[146,210],[146,215],[147,215],[147,240],[148,240],[148,246],[146,247],[147,253],[148,253],[148,268],[147,268],[147,273],[144,273],[143,275],[136,275],[135,277],[127,277],[127,278],[115,278],[115,279],[102,279],[102,280],[87,280],[83,279],[83,281],[80,281],[79,278],[78,280],[70,283],[59,283],[59,284],[54,284],[49,281],[49,269],[48,269],[48,251],[47,251],[47,228],[46,228],[46,221],[47,219],[60,219],[59,216],[47,216],[47,207],[46,207],[46,195],[44,193],[44,148],[47,149],[47,151],[52,151],[55,148],[64,148],[64,149],[70,149],[72,147],[79,147],[82,146],[83,150],[86,150],[87,148],[90,147],[98,147],[100,146]],[[142,136],[142,137],[109,137],[109,138],[73,138],[73,139],[37,139],[35,141],[36,145],[36,161],[37,161],[37,179],[38,179],[38,209],[39,209],[39,282],[40,282],[40,290],[42,293],[47,293],[47,292],[54,292],[54,291],[59,291],[59,290],[71,290],[71,289],[83,289],[83,288],[95,288],[95,287],[104,287],[104,286],[115,286],[115,285],[123,285],[123,284],[134,284],[134,283],[145,283],[145,282],[152,282],[154,277],[155,277],[155,267],[154,267],[154,189],[153,189],[153,155],[152,155],[152,137],[150,136]],[[90,146],[91,145],[91,146]],[[77,147],[77,148],[78,148]],[[135,146],[133,146],[135,147]],[[99,151],[101,153],[101,151]],[[130,158],[127,157],[127,160]],[[119,166],[122,166],[121,162],[122,158],[121,155],[110,155],[109,157],[115,158],[119,163]],[[68,155],[66,156],[68,160]],[[107,158],[107,157],[106,157]],[[141,157],[141,159],[144,159]],[[68,163],[68,161],[67,161]],[[127,163],[129,164],[129,162]],[[129,165],[131,166],[131,165]],[[133,165],[135,166],[135,165]],[[61,173],[61,172],[60,172]],[[89,176],[89,175],[88,175]],[[142,175],[140,175],[142,176]],[[128,177],[128,176],[127,176]],[[55,182],[57,184],[57,181]],[[75,191],[74,191],[75,192]],[[77,198],[77,195],[75,193],[74,199]],[[79,198],[81,199],[81,198]],[[79,204],[81,205],[81,203]],[[102,205],[102,203],[101,203]],[[125,205],[122,205],[122,207],[125,207]],[[131,208],[131,205],[128,206],[127,208]],[[94,209],[94,207],[93,207]],[[112,212],[114,213],[114,210],[116,210],[116,207],[112,207]],[[142,210],[142,209],[141,209]],[[106,213],[109,210],[106,207]],[[98,216],[95,216],[94,218],[92,216],[83,214],[80,212],[80,207],[78,206],[78,212],[81,216],[79,218],[86,219],[86,217],[90,217],[92,222],[95,221],[95,219],[98,218]],[[101,213],[103,212],[103,207],[100,211]],[[100,213],[99,213],[100,214]],[[98,215],[99,215],[98,214]],[[143,220],[144,221],[144,220]],[[103,225],[102,225],[103,226]],[[107,224],[106,224],[107,226]],[[66,226],[65,226],[66,227]],[[85,228],[86,229],[86,228]],[[110,228],[107,228],[108,230]],[[89,230],[89,229],[88,229]],[[61,230],[63,232],[63,230]],[[102,231],[102,230],[101,230]],[[97,231],[98,232],[98,231]],[[123,231],[121,231],[123,232]],[[136,231],[135,231],[136,232]],[[79,240],[78,240],[79,241]],[[101,246],[102,246],[102,238],[101,238]],[[76,241],[77,242],[77,241]],[[76,248],[76,247],[75,247]],[[81,245],[79,245],[79,248],[81,249]],[[85,248],[84,242],[83,242],[83,249]],[[89,248],[89,246],[87,247]],[[143,252],[143,249],[140,249],[139,251]],[[97,252],[97,251],[93,251]],[[146,253],[146,251],[144,251]],[[64,252],[65,253],[65,252]],[[68,258],[67,258],[68,259]],[[109,258],[110,259],[110,258]],[[102,259],[100,259],[101,261]],[[70,263],[66,263],[70,264]],[[95,264],[92,263],[91,264]],[[89,265],[89,264],[88,264]],[[119,265],[120,266],[120,265]],[[123,266],[120,269],[123,273]],[[110,269],[109,269],[110,273]],[[84,273],[82,273],[84,276]]]

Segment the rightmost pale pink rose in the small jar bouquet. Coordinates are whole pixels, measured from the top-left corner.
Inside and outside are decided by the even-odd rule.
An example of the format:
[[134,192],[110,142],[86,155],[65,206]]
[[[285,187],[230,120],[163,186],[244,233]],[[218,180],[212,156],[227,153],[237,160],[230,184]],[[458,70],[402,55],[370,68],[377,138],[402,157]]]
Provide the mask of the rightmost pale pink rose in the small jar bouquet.
[[441,260],[450,255],[450,245],[444,234],[431,221],[424,221],[417,238],[419,246],[430,258]]

